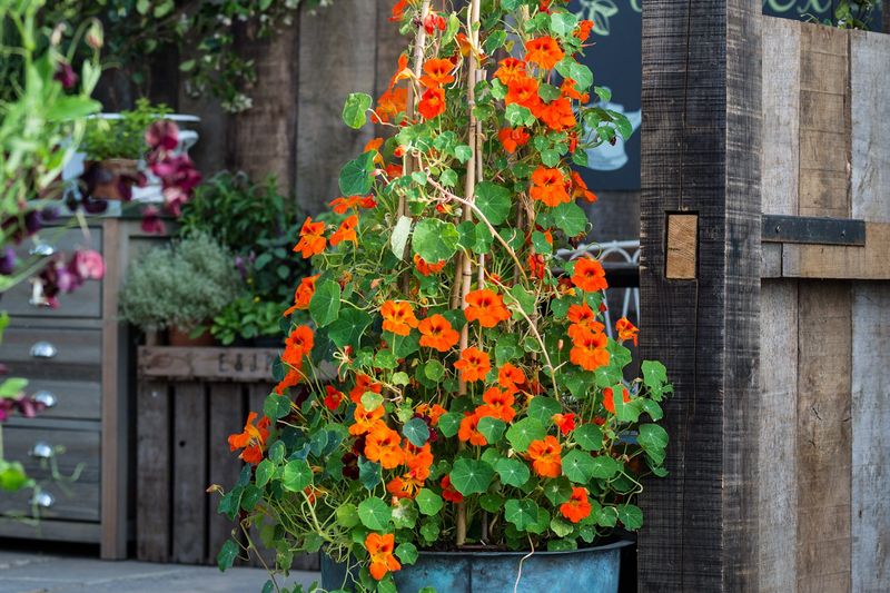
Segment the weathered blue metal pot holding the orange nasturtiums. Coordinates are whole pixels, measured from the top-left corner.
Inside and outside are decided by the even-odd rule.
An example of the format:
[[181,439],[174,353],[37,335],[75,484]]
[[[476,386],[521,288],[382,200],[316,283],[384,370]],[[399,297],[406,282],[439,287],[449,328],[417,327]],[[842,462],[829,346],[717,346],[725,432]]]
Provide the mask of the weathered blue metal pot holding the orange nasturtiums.
[[[614,544],[567,552],[421,552],[417,563],[393,573],[399,593],[432,586],[437,593],[617,593],[621,548]],[[520,562],[522,561],[522,575]],[[346,566],[322,554],[322,586],[346,582]]]

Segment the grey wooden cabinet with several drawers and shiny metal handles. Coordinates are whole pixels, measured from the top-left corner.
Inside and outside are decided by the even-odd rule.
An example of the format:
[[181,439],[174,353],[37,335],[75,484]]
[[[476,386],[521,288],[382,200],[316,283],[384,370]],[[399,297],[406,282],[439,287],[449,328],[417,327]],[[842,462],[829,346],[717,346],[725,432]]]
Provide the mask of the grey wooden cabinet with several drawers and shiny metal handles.
[[[57,230],[59,251],[100,250],[106,275],[62,295],[57,309],[32,305],[29,283],[0,300],[0,310],[11,317],[0,362],[10,376],[29,379],[28,393],[50,405],[36,418],[16,416],[3,425],[6,457],[21,461],[43,491],[39,522],[27,521],[30,491],[0,495],[0,537],[98,543],[102,557],[121,559],[132,536],[128,480],[135,456],[128,425],[134,387],[128,380],[132,348],[118,318],[117,295],[134,246],[158,238],[127,218],[90,220],[88,237],[79,228],[50,230]],[[29,240],[20,249],[32,247]],[[53,466],[77,480],[51,480]]]

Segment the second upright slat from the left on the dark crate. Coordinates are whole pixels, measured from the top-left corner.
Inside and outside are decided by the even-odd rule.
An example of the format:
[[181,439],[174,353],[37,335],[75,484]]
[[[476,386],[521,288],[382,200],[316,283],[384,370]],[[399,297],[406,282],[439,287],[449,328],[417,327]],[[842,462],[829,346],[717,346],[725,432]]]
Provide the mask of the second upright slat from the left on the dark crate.
[[174,562],[207,557],[207,395],[200,383],[177,383],[174,392]]

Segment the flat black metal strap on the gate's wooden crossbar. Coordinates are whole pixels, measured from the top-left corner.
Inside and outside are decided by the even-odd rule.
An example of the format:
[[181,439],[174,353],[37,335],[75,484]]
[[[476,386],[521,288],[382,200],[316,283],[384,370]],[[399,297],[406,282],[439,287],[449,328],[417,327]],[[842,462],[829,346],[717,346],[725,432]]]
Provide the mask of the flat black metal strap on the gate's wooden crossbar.
[[764,243],[866,245],[866,221],[852,218],[764,214],[761,233]]

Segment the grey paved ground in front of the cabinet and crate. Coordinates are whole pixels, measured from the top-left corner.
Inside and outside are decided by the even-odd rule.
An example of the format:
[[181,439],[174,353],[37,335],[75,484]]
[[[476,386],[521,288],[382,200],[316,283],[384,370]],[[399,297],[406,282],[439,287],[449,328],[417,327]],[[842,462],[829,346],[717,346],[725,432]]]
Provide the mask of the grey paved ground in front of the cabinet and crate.
[[[95,557],[0,551],[0,593],[259,593],[261,569],[103,562]],[[287,584],[308,585],[318,573],[293,573]]]

